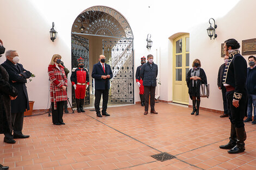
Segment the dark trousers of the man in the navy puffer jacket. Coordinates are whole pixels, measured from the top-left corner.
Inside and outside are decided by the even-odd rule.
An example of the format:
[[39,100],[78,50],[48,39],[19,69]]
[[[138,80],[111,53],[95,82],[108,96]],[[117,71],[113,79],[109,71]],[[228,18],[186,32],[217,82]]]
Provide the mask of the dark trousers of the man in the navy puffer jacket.
[[145,102],[145,111],[149,110],[149,93],[150,93],[150,108],[155,110],[155,92],[156,87],[154,86],[144,86],[144,102]]

